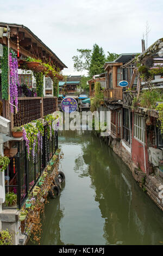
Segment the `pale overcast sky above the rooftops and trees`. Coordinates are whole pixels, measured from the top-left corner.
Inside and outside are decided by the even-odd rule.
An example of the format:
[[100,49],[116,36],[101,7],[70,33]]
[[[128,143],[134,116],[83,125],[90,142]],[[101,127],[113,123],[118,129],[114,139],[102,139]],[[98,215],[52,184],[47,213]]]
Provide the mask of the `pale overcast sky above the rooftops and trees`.
[[[27,26],[74,71],[77,48],[93,44],[116,53],[141,52],[146,22],[148,46],[163,37],[162,0],[0,0],[0,21]],[[84,72],[83,72],[84,74]]]

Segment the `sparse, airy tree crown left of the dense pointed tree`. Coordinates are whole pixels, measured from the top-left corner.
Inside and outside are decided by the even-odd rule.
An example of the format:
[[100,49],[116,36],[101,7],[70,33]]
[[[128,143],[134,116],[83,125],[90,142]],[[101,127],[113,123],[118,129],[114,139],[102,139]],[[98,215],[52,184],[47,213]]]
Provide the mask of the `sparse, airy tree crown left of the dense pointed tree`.
[[74,70],[76,71],[83,71],[87,70],[90,71],[90,61],[91,61],[91,52],[90,49],[77,49],[80,53],[80,56],[73,56],[72,59],[74,61]]

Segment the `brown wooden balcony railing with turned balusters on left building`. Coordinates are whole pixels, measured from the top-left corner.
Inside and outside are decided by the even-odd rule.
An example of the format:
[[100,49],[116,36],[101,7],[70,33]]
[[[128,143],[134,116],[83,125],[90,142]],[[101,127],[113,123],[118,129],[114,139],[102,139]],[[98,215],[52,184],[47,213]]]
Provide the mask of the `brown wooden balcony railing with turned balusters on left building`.
[[11,126],[21,126],[57,110],[57,97],[18,97],[18,112],[11,115]]

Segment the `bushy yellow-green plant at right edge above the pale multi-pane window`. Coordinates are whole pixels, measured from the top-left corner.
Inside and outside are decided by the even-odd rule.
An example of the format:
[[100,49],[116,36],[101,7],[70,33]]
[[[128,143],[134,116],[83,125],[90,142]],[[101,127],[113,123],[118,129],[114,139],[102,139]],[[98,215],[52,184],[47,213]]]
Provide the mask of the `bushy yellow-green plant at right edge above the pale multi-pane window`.
[[163,95],[161,94],[160,89],[148,89],[143,90],[139,97],[140,106],[145,108],[155,108],[156,101],[163,101]]

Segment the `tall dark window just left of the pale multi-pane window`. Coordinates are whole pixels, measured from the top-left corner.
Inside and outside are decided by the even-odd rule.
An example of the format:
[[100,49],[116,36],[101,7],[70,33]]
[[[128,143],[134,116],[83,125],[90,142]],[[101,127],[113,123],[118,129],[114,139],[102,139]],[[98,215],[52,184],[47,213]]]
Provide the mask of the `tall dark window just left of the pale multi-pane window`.
[[131,115],[129,125],[129,110],[123,108],[123,139],[130,144],[130,126],[131,126]]

